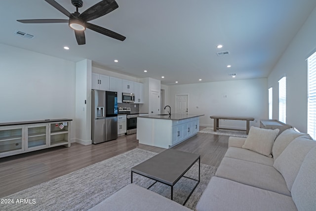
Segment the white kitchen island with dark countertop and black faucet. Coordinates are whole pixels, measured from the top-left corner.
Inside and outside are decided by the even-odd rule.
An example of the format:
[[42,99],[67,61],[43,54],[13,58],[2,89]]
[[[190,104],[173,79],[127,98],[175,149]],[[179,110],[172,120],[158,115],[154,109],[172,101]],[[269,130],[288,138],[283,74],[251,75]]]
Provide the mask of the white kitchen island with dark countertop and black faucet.
[[199,114],[148,115],[137,118],[140,144],[171,148],[197,134]]

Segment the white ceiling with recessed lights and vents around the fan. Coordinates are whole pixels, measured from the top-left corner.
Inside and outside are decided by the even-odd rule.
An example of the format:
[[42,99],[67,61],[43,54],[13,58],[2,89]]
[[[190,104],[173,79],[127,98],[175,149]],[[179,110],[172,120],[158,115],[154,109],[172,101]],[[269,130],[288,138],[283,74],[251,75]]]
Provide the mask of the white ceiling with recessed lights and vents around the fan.
[[[76,10],[71,0],[56,1]],[[79,12],[98,1],[83,0]],[[265,78],[316,7],[316,0],[116,1],[116,10],[90,23],[125,36],[123,42],[87,29],[86,44],[78,45],[67,23],[16,21],[68,19],[44,0],[2,0],[0,43],[72,61],[91,59],[93,66],[162,84]],[[14,35],[16,30],[35,38]],[[216,55],[226,50],[230,55]]]

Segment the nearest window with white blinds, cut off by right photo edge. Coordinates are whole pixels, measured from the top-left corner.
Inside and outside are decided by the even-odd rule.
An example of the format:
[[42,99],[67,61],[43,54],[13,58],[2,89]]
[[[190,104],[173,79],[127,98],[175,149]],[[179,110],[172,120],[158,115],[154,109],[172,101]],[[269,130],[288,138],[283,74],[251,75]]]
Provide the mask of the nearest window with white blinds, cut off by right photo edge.
[[316,138],[316,52],[308,59],[307,132]]

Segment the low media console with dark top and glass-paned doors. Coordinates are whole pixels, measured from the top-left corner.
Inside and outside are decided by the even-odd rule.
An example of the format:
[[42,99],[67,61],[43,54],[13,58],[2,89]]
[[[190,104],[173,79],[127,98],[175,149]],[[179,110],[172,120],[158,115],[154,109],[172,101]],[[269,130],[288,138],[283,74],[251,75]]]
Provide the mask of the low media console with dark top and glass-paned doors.
[[0,123],[0,158],[60,145],[70,147],[71,121]]

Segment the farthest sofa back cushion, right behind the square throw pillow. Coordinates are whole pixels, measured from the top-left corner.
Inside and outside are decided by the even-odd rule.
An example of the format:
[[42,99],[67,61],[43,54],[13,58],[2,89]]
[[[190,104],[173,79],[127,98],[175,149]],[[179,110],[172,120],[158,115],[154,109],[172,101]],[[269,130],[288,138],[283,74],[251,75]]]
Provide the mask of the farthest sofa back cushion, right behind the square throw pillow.
[[[291,143],[295,138],[308,135],[306,133],[298,132],[294,128],[289,128],[284,130],[281,134],[276,137],[275,143],[272,147],[272,155],[274,160],[283,152],[289,143]],[[309,135],[308,135],[309,136]],[[311,136],[309,136],[312,139]]]

